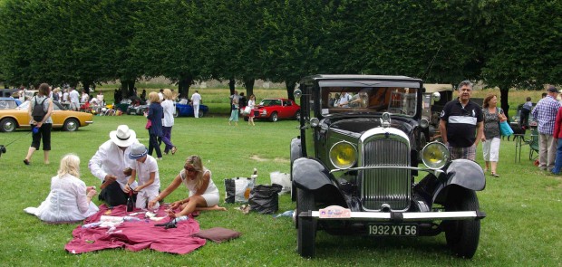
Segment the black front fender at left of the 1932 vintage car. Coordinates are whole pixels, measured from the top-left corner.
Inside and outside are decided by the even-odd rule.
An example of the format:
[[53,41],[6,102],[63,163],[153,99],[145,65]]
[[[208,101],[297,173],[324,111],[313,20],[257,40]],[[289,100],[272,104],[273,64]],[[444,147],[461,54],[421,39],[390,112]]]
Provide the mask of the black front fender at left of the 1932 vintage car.
[[323,186],[334,186],[328,168],[315,158],[297,158],[293,162],[292,173],[295,186],[305,190],[314,191]]

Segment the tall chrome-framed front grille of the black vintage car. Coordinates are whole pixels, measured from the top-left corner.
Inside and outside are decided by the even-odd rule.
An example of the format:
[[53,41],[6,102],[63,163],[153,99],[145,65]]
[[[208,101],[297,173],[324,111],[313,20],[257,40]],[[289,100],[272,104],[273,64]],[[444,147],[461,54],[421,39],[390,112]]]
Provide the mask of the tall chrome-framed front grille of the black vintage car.
[[389,167],[363,170],[362,204],[365,210],[378,211],[389,205],[392,211],[410,206],[411,170],[408,139],[384,134],[368,138],[363,143],[362,165]]

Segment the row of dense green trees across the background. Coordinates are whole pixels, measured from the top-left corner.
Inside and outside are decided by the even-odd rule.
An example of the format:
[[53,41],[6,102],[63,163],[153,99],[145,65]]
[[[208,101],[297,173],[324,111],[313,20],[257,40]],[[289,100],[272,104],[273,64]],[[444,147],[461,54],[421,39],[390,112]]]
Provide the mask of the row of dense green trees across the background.
[[561,83],[562,2],[545,0],[0,0],[0,78],[18,85],[165,76],[296,81],[314,73]]

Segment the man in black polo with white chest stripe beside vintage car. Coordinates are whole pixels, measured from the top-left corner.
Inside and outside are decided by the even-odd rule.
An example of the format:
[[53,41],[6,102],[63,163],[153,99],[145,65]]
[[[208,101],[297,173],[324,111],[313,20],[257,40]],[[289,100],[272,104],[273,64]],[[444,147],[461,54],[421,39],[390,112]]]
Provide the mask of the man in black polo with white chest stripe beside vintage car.
[[439,129],[443,143],[451,152],[451,159],[476,160],[476,147],[482,135],[482,109],[470,100],[472,82],[460,81],[459,98],[445,104],[441,111]]

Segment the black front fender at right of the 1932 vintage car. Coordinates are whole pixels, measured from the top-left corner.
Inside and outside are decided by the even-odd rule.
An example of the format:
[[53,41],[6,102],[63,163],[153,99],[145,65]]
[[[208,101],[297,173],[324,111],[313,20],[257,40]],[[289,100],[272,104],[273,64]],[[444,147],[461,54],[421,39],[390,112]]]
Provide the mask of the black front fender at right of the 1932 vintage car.
[[[444,176],[444,177],[443,177]],[[446,174],[440,176],[444,182],[437,186],[433,194],[433,202],[442,203],[447,191],[452,186],[481,191],[486,187],[484,171],[478,163],[469,159],[455,159],[446,168]]]

